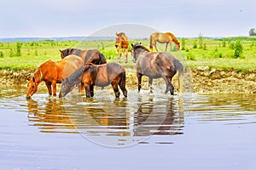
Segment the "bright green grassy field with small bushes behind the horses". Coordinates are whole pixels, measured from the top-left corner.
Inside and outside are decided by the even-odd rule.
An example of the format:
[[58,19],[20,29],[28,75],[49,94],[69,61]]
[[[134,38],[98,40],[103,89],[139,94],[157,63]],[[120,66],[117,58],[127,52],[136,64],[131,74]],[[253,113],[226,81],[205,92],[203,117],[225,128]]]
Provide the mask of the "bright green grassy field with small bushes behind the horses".
[[[148,40],[130,41],[142,42],[148,47]],[[216,68],[234,68],[241,71],[256,71],[256,37],[226,37],[226,38],[182,38],[179,39],[182,50],[176,51],[172,45],[172,54],[183,58],[189,66],[210,66]],[[241,44],[239,56],[235,55],[237,42]],[[157,44],[163,51],[165,44]],[[38,42],[0,42],[0,68],[24,69],[36,68],[47,59],[59,60],[59,49],[65,48],[97,48],[106,56],[108,62],[115,61],[116,50],[114,41],[38,41]],[[170,52],[170,47],[168,47]],[[131,54],[125,66],[133,66]]]

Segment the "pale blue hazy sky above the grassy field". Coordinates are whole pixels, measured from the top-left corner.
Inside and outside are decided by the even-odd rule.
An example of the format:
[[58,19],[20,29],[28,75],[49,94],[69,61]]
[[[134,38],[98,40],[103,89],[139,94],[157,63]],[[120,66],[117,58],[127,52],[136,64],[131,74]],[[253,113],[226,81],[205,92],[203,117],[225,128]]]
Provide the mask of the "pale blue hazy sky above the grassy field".
[[[0,0],[0,38],[87,37],[111,26],[143,26],[176,37],[248,36],[255,0]],[[120,30],[122,31],[122,30]],[[136,31],[136,30],[135,30]]]

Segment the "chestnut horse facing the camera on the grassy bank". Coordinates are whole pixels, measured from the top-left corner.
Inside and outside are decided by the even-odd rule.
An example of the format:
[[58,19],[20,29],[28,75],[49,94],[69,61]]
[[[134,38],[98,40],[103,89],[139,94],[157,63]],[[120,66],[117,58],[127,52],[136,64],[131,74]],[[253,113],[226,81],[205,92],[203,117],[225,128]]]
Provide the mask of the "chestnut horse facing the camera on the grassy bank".
[[118,57],[119,57],[119,63],[120,63],[121,62],[120,58],[122,56],[122,53],[124,53],[125,54],[125,63],[127,63],[128,62],[129,40],[124,32],[116,33],[115,48],[117,51],[116,61],[118,61]]

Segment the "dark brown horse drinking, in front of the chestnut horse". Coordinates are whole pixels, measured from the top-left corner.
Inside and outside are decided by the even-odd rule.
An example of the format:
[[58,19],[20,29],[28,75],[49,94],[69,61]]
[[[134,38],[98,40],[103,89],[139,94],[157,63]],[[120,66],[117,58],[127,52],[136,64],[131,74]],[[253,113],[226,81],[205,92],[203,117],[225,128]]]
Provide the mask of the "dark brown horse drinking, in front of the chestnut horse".
[[[81,72],[83,72],[82,81],[80,78]],[[73,72],[70,77],[63,80],[59,97],[61,98],[67,95],[78,82],[82,82],[84,85],[86,98],[94,96],[94,86],[106,87],[109,84],[112,85],[116,98],[119,98],[119,88],[121,88],[124,96],[127,97],[125,68],[117,63],[83,65],[77,71]]]

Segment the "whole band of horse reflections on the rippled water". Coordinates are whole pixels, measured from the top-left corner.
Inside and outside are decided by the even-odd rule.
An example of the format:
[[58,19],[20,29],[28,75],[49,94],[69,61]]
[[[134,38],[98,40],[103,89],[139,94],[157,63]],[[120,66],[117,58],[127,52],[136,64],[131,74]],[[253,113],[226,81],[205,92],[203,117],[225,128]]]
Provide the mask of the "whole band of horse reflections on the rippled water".
[[[176,101],[138,98],[137,105],[128,99],[27,100],[28,119],[42,133],[84,133],[87,136],[145,137],[183,133],[183,111]],[[65,106],[67,105],[67,106]],[[73,106],[70,106],[73,105]],[[135,107],[135,108],[134,108]],[[135,110],[135,112],[133,112]]]

